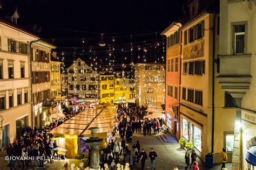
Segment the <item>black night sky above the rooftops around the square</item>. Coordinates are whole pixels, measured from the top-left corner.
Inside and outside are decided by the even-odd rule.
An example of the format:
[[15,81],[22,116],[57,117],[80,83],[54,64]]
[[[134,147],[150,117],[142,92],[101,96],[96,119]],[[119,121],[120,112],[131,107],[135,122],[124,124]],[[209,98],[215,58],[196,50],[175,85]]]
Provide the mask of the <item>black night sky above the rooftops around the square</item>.
[[[164,37],[159,34],[181,15],[183,4],[186,5],[184,0],[2,0],[2,3],[4,7],[18,7],[20,25],[42,27],[40,36],[58,46],[58,56],[63,53],[67,65],[78,56],[86,61],[98,56],[97,60],[102,61],[109,49],[115,65],[131,60],[144,62],[143,55],[146,62],[161,60]],[[105,47],[98,46],[100,33],[104,33]]]

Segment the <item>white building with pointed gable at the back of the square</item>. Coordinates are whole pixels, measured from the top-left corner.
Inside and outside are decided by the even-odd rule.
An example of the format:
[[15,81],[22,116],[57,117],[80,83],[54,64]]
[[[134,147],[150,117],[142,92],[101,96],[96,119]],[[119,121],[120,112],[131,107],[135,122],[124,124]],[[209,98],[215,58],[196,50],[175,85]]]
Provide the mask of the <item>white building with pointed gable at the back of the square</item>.
[[85,98],[85,101],[95,101],[98,98],[98,77],[99,74],[91,67],[78,58],[73,64],[66,69],[64,78],[65,83],[68,85],[68,94],[76,95],[77,97]]

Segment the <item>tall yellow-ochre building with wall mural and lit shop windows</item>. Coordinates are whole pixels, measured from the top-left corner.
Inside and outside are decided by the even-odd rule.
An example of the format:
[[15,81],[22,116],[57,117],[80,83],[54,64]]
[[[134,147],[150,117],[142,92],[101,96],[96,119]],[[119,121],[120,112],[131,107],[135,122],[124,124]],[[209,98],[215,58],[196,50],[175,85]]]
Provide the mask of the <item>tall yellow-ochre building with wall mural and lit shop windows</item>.
[[203,161],[212,153],[213,162],[220,162],[222,148],[227,149],[231,161],[233,108],[224,109],[224,91],[216,78],[219,14],[214,8],[218,9],[218,4],[203,10],[199,3],[189,4],[190,20],[181,27],[180,137],[193,144]]

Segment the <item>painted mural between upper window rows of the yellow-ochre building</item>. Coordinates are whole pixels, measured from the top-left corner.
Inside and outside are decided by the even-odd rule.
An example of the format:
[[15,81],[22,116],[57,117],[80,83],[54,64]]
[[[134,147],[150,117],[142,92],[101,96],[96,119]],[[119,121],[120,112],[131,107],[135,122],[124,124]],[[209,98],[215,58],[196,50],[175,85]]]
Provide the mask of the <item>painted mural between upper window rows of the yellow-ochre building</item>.
[[183,48],[183,60],[194,59],[204,56],[204,39]]

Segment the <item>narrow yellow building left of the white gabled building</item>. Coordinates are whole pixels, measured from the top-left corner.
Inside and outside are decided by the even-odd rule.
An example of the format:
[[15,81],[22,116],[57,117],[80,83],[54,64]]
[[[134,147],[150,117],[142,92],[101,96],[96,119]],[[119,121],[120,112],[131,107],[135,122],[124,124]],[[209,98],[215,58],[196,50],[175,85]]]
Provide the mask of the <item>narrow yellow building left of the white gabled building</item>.
[[50,62],[51,72],[50,72],[50,81],[51,81],[51,98],[53,98],[54,102],[60,101],[60,92],[61,92],[61,86],[60,86],[60,65],[62,62],[54,61],[55,59],[52,59]]

